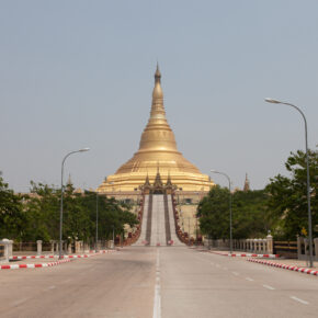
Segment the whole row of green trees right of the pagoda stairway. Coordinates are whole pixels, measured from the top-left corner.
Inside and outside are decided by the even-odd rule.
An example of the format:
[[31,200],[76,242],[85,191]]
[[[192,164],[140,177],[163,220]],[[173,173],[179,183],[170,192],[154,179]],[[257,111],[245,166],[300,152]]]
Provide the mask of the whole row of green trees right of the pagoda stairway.
[[[291,154],[288,177],[276,175],[263,190],[232,193],[234,238],[261,238],[269,231],[276,239],[295,240],[308,232],[306,154]],[[318,237],[318,151],[309,151],[313,232]],[[202,234],[229,238],[229,191],[214,186],[197,208]]]

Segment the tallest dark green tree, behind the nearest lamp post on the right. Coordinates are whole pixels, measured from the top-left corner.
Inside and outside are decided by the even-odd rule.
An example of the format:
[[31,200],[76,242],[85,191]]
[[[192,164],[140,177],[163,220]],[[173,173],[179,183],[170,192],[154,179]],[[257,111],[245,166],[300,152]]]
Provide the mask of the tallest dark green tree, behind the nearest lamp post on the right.
[[[295,240],[302,235],[302,229],[308,231],[307,209],[307,170],[306,154],[298,150],[291,152],[286,163],[288,177],[277,174],[266,186],[270,194],[269,209],[271,217],[276,220],[274,235],[281,239]],[[318,235],[318,152],[309,150],[310,200],[314,225],[314,237]]]

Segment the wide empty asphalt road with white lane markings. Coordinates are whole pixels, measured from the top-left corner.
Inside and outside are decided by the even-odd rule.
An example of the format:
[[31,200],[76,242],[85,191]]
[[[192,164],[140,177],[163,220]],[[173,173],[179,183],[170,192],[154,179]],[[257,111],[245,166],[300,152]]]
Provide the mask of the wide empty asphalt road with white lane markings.
[[318,277],[182,248],[0,271],[0,317],[317,317]]

